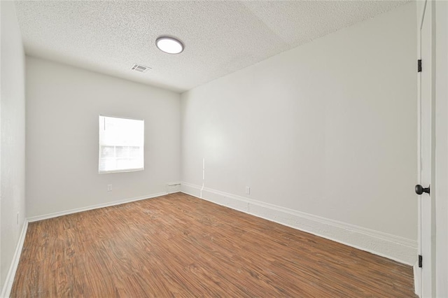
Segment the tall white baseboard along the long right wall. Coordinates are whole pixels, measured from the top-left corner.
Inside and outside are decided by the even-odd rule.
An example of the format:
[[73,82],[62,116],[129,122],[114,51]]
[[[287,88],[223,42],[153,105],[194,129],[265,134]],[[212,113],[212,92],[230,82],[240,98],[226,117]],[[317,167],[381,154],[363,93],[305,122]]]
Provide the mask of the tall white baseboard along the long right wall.
[[353,248],[365,250],[381,257],[387,257],[400,263],[412,266],[416,260],[417,242],[414,240],[267,204],[235,194],[212,190],[207,187],[202,188],[200,185],[191,183],[182,182],[181,192],[281,225],[300,229]]

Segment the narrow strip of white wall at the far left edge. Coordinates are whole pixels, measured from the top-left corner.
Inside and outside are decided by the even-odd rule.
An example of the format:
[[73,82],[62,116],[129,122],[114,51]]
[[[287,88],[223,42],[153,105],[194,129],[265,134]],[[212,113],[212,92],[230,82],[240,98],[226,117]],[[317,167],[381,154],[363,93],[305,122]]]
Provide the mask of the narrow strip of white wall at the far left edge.
[[25,55],[14,3],[1,1],[0,10],[0,292],[4,292],[25,221]]

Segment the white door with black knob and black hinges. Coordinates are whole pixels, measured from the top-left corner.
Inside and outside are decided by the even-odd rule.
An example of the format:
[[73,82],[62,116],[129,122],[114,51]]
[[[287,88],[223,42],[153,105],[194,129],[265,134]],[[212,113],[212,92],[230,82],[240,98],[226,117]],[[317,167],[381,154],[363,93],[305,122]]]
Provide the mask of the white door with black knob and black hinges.
[[435,97],[433,76],[433,2],[431,0],[417,1],[419,8],[419,59],[421,59],[421,71],[418,73],[419,83],[419,162],[416,193],[419,204],[419,257],[421,256],[421,268],[417,276],[416,289],[420,297],[433,297],[435,257],[435,197],[430,192],[433,185],[434,142],[435,142]]

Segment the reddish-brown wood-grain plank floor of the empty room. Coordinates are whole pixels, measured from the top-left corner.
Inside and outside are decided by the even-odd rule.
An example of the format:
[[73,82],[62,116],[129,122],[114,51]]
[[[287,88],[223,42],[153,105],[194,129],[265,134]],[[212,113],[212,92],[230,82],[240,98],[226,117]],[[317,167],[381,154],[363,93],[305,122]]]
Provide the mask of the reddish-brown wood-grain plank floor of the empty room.
[[412,267],[187,194],[29,223],[11,297],[416,297]]

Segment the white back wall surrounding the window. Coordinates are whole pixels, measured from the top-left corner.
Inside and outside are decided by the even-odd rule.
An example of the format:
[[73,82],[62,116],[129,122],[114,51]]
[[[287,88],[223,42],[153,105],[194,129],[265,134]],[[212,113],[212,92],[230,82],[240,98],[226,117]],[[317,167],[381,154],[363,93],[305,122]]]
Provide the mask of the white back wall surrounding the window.
[[[179,180],[179,94],[34,57],[26,78],[28,217],[161,194]],[[99,114],[145,120],[144,171],[98,173]]]

